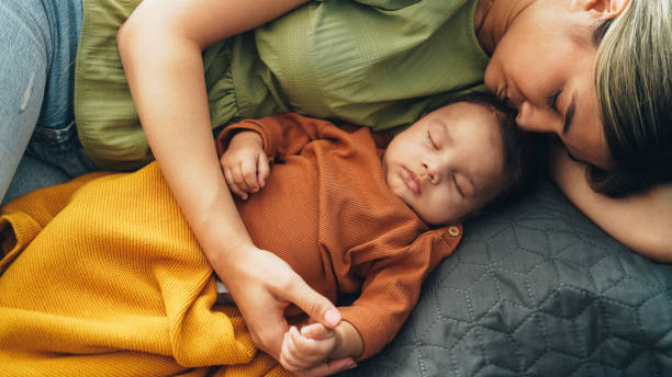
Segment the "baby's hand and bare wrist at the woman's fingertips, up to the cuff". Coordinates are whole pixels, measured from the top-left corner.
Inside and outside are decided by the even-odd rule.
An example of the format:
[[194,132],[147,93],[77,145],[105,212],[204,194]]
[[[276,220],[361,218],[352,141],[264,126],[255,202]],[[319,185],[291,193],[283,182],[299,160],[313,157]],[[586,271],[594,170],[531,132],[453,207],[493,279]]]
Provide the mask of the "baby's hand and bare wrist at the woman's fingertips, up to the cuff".
[[[290,372],[306,370],[328,358],[355,358],[361,354],[362,349],[361,335],[346,321],[341,321],[334,330],[322,323],[312,323],[301,330],[291,327],[284,333],[280,363]],[[356,365],[352,361],[347,367]]]

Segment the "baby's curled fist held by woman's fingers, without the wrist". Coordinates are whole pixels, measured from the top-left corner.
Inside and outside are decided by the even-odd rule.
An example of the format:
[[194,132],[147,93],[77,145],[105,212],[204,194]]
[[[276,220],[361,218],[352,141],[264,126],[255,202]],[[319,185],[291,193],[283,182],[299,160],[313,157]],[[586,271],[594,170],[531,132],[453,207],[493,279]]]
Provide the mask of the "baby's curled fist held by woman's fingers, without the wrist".
[[301,331],[292,325],[282,340],[280,364],[290,372],[309,369],[329,358],[337,346],[336,331],[322,323],[305,325]]

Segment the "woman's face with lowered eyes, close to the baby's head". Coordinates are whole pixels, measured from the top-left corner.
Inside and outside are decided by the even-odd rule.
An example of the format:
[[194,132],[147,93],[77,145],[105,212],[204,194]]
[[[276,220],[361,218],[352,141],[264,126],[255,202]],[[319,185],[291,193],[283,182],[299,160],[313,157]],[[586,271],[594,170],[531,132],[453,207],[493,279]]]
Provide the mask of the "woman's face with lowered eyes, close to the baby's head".
[[597,15],[585,3],[531,1],[496,45],[485,85],[518,110],[520,128],[556,134],[572,158],[608,169],[593,78]]

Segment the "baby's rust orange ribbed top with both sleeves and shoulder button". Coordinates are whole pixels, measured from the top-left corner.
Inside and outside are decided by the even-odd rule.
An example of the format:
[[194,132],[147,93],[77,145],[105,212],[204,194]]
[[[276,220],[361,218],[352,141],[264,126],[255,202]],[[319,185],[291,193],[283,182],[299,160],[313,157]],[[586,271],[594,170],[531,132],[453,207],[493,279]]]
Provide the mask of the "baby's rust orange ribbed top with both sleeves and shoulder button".
[[332,300],[361,295],[339,308],[360,333],[367,358],[389,343],[415,306],[422,282],[449,255],[461,225],[432,229],[387,185],[382,145],[367,127],[337,127],[298,114],[228,126],[259,133],[272,159],[266,186],[236,199],[255,245],[287,261]]

